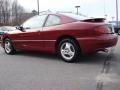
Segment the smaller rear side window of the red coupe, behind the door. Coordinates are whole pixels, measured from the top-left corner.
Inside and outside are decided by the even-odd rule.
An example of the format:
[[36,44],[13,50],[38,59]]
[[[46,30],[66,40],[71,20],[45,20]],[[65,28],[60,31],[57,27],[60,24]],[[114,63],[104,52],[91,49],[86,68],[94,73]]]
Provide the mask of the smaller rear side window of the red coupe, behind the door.
[[47,19],[45,26],[54,26],[54,25],[59,25],[60,23],[61,20],[58,16],[50,15]]

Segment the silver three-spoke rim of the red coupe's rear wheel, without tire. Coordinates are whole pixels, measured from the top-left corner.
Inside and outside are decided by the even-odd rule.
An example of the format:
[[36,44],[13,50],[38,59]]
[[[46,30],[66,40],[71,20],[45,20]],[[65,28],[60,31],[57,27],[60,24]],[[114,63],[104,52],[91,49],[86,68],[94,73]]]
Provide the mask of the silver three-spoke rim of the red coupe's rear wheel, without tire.
[[70,61],[75,55],[75,48],[71,43],[63,43],[60,50],[62,57],[67,61]]

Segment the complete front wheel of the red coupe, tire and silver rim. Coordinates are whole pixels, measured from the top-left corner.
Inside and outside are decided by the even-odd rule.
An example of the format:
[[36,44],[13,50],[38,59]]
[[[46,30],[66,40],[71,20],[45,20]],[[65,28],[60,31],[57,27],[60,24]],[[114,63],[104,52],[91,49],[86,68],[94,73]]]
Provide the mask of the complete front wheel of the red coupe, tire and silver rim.
[[15,53],[15,49],[14,49],[10,39],[4,40],[4,50],[5,50],[6,54],[9,54],[9,55],[12,55]]

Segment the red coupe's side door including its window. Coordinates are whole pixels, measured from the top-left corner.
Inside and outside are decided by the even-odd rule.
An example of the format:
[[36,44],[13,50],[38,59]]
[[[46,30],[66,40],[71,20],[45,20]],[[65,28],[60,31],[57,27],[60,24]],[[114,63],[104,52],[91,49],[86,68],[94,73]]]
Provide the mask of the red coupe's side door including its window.
[[41,31],[47,15],[37,15],[22,24],[23,31],[17,35],[20,49],[42,50],[43,41]]

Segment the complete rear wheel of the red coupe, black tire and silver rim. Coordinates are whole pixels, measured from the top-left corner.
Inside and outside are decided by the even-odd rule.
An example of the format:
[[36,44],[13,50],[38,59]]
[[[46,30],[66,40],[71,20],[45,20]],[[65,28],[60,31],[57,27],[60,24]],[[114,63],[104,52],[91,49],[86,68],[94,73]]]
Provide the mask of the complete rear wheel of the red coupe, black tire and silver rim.
[[58,53],[65,62],[76,62],[80,49],[72,39],[64,39],[59,43]]

